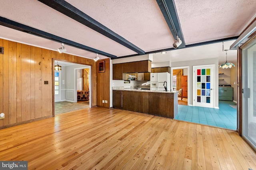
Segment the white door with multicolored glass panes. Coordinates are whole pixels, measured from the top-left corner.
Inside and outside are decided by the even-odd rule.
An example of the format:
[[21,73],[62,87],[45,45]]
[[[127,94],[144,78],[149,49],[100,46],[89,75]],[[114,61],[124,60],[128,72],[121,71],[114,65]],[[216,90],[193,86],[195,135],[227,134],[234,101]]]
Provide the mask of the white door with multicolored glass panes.
[[214,108],[215,65],[193,66],[193,106]]

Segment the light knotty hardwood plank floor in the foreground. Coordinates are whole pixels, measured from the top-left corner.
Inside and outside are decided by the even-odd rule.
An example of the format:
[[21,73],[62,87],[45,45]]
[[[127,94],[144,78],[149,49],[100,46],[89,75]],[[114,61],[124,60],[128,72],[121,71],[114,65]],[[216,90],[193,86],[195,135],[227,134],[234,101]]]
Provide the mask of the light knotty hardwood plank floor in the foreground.
[[30,170],[256,170],[235,131],[98,107],[2,129],[0,146]]

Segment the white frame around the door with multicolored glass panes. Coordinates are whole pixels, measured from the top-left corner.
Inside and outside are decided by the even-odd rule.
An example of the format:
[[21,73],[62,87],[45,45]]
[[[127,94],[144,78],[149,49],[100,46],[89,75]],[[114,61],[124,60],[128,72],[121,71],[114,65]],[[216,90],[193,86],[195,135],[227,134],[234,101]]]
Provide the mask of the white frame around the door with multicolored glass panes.
[[195,86],[195,81],[196,81],[196,79],[194,78],[195,77],[195,74],[196,74],[196,71],[195,71],[195,68],[196,67],[209,67],[209,66],[212,66],[213,67],[213,75],[212,75],[212,77],[211,77],[211,81],[212,81],[212,91],[213,92],[211,92],[212,94],[213,94],[213,99],[212,99],[212,107],[211,108],[215,108],[215,99],[216,99],[216,95],[215,95],[215,90],[217,90],[217,89],[215,89],[215,77],[216,77],[216,75],[215,75],[215,64],[208,64],[208,65],[193,65],[193,106],[195,106],[195,100],[196,100],[196,98],[195,98],[195,89],[197,88],[197,86]]

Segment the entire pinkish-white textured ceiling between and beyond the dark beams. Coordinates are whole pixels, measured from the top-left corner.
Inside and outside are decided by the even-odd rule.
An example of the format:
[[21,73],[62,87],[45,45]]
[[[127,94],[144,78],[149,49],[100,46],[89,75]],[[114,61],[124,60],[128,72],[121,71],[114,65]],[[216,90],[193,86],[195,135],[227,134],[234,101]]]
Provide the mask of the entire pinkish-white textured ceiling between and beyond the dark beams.
[[[145,52],[168,49],[174,38],[156,0],[66,0],[88,16]],[[239,36],[256,16],[255,0],[174,0],[186,45]],[[80,24],[37,0],[2,0],[0,16],[48,32],[112,55],[136,52]],[[60,42],[0,26],[0,37],[56,50]],[[224,42],[229,44],[229,42]],[[222,43],[168,51],[168,57],[154,57],[153,62],[184,61],[218,57],[225,60]],[[220,46],[220,47],[219,47]],[[65,45],[67,53],[94,58],[95,53]],[[227,47],[229,46],[227,45]],[[167,54],[168,54],[167,53]],[[223,59],[224,53],[224,59]],[[166,55],[167,55],[166,54]],[[154,54],[155,56],[158,53]],[[106,58],[100,55],[100,58]],[[236,51],[228,51],[230,60]]]

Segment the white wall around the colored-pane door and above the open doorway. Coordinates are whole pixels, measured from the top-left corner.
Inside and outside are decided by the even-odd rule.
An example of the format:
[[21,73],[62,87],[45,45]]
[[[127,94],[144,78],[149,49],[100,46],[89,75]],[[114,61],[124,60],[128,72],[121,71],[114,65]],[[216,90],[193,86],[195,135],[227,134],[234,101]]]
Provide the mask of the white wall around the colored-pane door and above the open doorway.
[[188,89],[188,105],[193,105],[193,66],[194,65],[209,65],[209,64],[215,64],[215,106],[218,108],[218,58],[210,58],[210,59],[199,59],[199,60],[190,60],[190,61],[179,61],[179,62],[172,62],[171,67],[185,67],[189,66],[189,89]]

